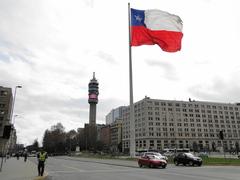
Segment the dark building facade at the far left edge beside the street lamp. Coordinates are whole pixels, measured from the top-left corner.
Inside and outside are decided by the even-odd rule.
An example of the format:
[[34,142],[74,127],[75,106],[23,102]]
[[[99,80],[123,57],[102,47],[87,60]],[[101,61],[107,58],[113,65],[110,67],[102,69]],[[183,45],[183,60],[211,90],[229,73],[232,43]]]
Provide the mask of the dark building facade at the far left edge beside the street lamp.
[[6,144],[2,138],[5,125],[10,125],[12,109],[12,89],[0,86],[0,151]]

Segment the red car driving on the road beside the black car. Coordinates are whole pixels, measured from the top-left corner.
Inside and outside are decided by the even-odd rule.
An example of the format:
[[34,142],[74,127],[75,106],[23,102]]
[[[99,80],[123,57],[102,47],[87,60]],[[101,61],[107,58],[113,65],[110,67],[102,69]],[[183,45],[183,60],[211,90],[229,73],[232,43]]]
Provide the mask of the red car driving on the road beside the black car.
[[160,159],[160,158],[156,157],[155,155],[147,155],[147,156],[142,156],[138,159],[138,165],[139,165],[139,167],[148,166],[150,168],[152,168],[152,167],[166,168],[167,161],[164,159]]

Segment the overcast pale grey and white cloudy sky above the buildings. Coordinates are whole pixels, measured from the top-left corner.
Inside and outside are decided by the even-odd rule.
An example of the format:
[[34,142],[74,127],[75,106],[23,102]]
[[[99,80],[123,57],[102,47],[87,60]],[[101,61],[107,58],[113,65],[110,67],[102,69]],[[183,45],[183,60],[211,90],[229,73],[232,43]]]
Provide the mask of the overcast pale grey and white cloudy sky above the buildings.
[[182,50],[132,48],[134,102],[240,102],[238,0],[0,0],[0,85],[17,90],[18,143],[47,128],[89,121],[88,83],[99,81],[97,123],[129,104],[128,2],[183,20]]

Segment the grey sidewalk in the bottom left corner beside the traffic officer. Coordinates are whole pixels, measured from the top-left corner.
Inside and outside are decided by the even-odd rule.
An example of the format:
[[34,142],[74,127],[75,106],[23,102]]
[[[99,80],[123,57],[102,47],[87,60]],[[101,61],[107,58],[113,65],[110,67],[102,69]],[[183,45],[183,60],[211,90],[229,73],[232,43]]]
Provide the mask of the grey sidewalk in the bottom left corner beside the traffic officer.
[[[2,159],[1,159],[2,160]],[[37,176],[37,165],[27,160],[24,162],[23,158],[19,160],[12,157],[3,162],[2,171],[0,172],[1,180],[44,180],[46,175],[43,177]]]

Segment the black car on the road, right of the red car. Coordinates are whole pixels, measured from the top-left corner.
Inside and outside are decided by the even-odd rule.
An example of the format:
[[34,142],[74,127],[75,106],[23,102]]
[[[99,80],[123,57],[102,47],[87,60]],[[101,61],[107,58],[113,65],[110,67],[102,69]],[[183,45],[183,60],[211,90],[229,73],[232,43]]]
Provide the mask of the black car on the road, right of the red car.
[[189,166],[202,165],[202,159],[200,157],[194,156],[191,153],[179,153],[174,157],[173,161],[176,166],[179,164],[183,164],[184,166],[187,164]]

